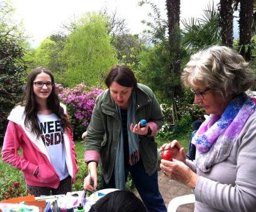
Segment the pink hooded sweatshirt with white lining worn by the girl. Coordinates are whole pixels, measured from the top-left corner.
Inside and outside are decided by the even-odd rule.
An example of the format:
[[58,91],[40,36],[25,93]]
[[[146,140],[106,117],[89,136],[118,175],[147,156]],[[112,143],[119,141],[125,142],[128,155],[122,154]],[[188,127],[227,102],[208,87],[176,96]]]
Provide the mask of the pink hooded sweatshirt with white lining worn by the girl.
[[[66,113],[66,106],[61,104]],[[37,139],[36,134],[24,125],[24,107],[15,107],[8,116],[8,126],[2,146],[2,160],[22,170],[25,181],[30,186],[58,188],[60,178],[52,166],[48,152],[41,137]],[[75,175],[78,171],[76,165],[76,152],[72,133],[67,129],[64,133],[64,151],[67,170],[75,183]],[[18,150],[22,148],[23,154]],[[39,173],[34,176],[37,167]]]

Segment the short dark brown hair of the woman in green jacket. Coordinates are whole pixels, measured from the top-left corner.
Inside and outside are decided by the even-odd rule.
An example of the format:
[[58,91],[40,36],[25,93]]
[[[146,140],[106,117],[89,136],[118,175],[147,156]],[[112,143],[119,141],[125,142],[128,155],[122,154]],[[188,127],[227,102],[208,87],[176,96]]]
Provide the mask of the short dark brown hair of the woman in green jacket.
[[111,68],[105,78],[105,84],[109,88],[114,81],[123,87],[137,88],[137,80],[133,71],[125,65],[116,65]]

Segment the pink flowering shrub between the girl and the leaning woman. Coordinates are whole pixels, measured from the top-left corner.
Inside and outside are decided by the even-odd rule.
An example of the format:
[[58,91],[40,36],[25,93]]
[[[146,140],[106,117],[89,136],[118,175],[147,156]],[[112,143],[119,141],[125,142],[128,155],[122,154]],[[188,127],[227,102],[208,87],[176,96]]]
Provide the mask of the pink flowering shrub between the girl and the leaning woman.
[[104,90],[99,87],[88,88],[84,83],[73,89],[64,88],[61,84],[56,84],[56,87],[60,101],[67,106],[74,139],[80,139],[89,125],[96,97]]

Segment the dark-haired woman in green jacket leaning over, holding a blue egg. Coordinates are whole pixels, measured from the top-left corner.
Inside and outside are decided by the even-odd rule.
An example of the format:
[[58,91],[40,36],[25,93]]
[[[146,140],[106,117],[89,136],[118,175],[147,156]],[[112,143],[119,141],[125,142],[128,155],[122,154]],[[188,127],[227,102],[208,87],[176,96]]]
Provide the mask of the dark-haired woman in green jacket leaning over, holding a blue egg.
[[[128,173],[149,211],[167,211],[158,190],[157,143],[154,135],[163,125],[163,113],[149,87],[137,84],[128,66],[111,68],[105,90],[96,99],[87,128],[84,159],[90,174],[84,189],[97,187],[98,163],[103,189],[125,189]],[[145,127],[140,120],[146,119]],[[91,183],[93,186],[91,186]]]

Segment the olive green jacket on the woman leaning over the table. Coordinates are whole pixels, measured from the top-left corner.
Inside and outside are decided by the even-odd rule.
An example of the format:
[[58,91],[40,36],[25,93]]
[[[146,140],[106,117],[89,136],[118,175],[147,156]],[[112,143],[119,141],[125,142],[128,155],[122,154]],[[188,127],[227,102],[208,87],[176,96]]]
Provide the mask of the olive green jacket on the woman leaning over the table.
[[[141,119],[155,122],[158,129],[163,125],[164,115],[154,93],[142,84],[138,84],[136,89],[135,119],[136,123]],[[114,169],[121,123],[114,99],[107,89],[96,99],[85,145],[86,151],[98,151],[101,155],[101,170],[107,183]],[[139,136],[139,143],[140,158],[150,176],[157,169],[157,143],[154,137],[144,136]]]

